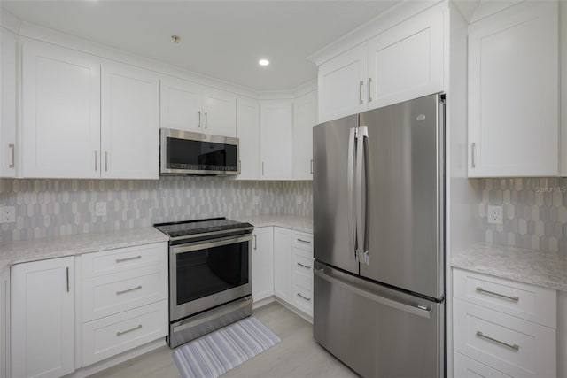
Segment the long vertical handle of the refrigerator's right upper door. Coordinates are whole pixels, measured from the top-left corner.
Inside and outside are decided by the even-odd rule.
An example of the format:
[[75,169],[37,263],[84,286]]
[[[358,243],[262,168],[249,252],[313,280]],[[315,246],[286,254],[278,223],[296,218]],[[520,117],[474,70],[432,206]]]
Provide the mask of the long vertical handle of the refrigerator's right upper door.
[[361,252],[363,261],[369,265],[369,243],[367,220],[367,182],[368,182],[368,140],[369,127],[358,127],[358,138],[356,146],[356,230],[358,239],[358,251]]

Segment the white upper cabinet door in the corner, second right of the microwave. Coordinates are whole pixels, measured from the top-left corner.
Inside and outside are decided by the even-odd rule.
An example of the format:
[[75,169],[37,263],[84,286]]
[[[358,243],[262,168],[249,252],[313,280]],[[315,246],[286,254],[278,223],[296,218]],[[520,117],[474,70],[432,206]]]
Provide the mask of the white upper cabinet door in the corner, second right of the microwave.
[[260,103],[260,174],[264,180],[291,179],[291,100]]

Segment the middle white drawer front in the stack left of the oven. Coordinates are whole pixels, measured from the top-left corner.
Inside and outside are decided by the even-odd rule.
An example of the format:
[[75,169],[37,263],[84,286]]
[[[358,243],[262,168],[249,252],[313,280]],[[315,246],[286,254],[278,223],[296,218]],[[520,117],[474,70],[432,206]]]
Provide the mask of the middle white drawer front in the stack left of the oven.
[[82,319],[96,320],[167,299],[167,269],[150,266],[82,282]]

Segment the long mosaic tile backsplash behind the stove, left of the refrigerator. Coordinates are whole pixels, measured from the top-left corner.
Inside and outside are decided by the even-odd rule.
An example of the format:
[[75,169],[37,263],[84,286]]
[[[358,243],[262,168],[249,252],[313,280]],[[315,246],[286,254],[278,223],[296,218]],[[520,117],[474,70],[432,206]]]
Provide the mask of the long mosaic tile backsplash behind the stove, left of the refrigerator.
[[[97,202],[106,203],[106,216],[95,215]],[[217,216],[312,216],[313,196],[311,181],[1,179],[0,205],[16,208],[16,223],[0,225],[4,243]]]

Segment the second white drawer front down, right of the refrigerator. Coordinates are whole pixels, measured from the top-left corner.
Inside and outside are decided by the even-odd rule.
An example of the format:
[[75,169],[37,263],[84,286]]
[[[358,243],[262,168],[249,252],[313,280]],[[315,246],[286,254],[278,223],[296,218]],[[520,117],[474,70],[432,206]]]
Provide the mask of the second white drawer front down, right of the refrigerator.
[[454,350],[504,374],[554,377],[555,329],[454,299]]

